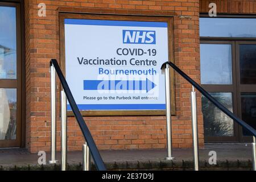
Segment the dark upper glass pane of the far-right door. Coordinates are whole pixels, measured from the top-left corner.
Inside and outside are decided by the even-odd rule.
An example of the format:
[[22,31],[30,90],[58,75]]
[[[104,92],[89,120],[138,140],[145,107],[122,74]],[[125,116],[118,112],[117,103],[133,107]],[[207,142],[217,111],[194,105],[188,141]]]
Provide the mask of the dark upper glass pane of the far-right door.
[[256,45],[240,45],[240,82],[256,84]]

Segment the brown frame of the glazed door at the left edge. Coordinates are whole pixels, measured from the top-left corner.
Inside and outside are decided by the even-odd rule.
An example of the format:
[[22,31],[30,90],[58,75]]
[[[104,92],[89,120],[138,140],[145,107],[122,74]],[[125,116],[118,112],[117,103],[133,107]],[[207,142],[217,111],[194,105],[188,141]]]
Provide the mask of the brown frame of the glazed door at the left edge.
[[0,140],[0,148],[24,147],[26,142],[24,3],[23,1],[6,1],[0,2],[0,6],[16,9],[16,79],[0,79],[0,88],[16,89],[16,139]]

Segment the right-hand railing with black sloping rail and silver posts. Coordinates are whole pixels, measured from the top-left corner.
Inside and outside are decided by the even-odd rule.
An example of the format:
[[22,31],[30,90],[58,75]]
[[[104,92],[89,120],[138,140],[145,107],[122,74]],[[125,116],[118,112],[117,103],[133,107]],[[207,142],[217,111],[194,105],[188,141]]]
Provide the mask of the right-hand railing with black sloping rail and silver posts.
[[[226,109],[225,106],[220,104],[215,98],[210,96],[210,94],[205,91],[199,84],[192,80],[191,77],[186,75],[180,68],[178,68],[174,63],[167,61],[162,64],[161,69],[165,68],[165,77],[166,77],[166,118],[167,118],[167,126],[171,126],[171,105],[170,105],[170,77],[169,77],[169,66],[171,66],[177,73],[179,73],[185,80],[187,80],[190,84],[192,84],[192,92],[191,92],[191,118],[192,118],[192,139],[193,139],[193,159],[194,159],[194,168],[195,171],[199,171],[199,150],[198,150],[198,131],[197,131],[197,111],[196,111],[196,92],[195,88],[199,90],[203,96],[207,97],[210,102],[212,102],[218,109],[223,111],[228,117],[232,118],[234,121],[245,127],[252,135],[253,142],[251,143],[251,152],[252,152],[252,164],[253,170],[256,171],[256,130],[253,127],[249,126],[245,121],[238,118],[231,111]],[[171,156],[171,127],[167,127],[167,159],[174,158]],[[171,157],[171,158],[170,158]]]

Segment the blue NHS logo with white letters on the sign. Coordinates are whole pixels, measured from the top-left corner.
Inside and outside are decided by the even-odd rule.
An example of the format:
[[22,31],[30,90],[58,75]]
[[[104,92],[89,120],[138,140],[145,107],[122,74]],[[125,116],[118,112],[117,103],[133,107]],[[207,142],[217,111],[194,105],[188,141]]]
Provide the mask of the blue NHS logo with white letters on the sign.
[[155,44],[155,31],[123,30],[124,44]]

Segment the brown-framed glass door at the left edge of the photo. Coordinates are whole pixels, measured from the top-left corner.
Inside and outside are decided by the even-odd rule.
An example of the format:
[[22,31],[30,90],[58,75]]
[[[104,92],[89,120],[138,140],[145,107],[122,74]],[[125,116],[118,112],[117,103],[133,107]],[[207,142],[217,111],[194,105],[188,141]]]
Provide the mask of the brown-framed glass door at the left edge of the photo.
[[20,7],[0,2],[0,147],[20,147]]

